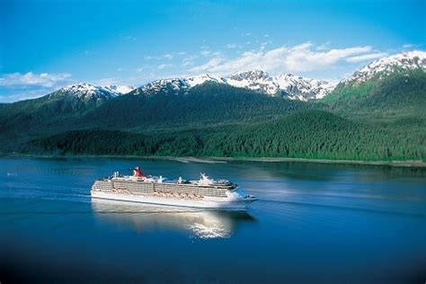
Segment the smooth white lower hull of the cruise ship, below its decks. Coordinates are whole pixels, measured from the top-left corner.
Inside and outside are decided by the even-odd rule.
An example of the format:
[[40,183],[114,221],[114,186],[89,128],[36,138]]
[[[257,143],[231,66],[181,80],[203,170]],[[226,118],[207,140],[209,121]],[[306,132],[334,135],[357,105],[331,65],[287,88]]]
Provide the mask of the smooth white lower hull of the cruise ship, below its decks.
[[178,207],[189,207],[189,208],[202,208],[202,209],[246,209],[246,207],[252,203],[254,198],[247,199],[234,199],[234,198],[207,198],[203,200],[182,200],[172,199],[165,197],[125,194],[125,193],[114,193],[114,192],[103,192],[103,191],[91,191],[93,198],[104,199],[104,200],[124,200],[131,202],[141,202],[148,204],[167,205],[167,206],[178,206]]

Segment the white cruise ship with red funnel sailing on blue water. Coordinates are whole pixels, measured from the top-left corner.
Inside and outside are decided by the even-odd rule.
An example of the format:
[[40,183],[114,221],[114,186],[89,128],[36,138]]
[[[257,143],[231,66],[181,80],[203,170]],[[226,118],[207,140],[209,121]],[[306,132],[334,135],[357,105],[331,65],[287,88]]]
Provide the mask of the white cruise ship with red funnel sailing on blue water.
[[99,199],[203,209],[246,209],[257,200],[234,182],[210,179],[205,173],[200,173],[198,181],[182,177],[169,180],[161,175],[146,175],[139,167],[133,169],[133,175],[115,172],[111,177],[95,181],[91,195]]

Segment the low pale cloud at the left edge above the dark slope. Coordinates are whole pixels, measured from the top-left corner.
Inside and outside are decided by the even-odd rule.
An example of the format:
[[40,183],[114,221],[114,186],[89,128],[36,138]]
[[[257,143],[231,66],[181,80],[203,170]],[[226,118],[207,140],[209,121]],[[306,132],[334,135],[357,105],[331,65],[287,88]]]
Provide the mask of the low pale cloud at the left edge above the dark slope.
[[13,73],[13,74],[4,74],[0,76],[0,86],[42,86],[42,87],[52,87],[60,82],[67,81],[70,77],[70,74],[60,73],[60,74],[49,74],[49,73],[40,73],[34,74],[28,72],[26,74]]

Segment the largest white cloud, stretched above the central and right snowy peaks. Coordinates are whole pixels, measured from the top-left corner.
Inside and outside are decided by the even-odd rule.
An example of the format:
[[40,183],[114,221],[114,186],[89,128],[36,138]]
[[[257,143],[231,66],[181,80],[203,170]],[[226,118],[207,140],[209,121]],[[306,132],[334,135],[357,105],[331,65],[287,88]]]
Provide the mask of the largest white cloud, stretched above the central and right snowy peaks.
[[[326,70],[338,62],[355,62],[359,56],[367,58],[373,50],[370,46],[351,47],[346,49],[316,49],[311,42],[296,46],[282,46],[277,49],[246,51],[237,58],[226,59],[218,55],[208,62],[192,67],[191,72],[209,72],[213,74],[229,74],[241,70],[262,69],[274,72],[312,72]],[[377,53],[373,53],[377,56]],[[352,58],[352,61],[346,59]],[[368,59],[368,58],[367,58]]]

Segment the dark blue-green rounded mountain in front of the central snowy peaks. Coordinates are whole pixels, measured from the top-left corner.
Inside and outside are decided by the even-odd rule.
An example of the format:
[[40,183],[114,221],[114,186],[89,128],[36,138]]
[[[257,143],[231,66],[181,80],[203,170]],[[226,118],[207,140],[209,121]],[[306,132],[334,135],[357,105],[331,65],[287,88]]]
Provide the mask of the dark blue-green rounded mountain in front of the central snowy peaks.
[[[182,85],[181,81],[168,81],[162,89],[155,91],[155,95],[149,95],[145,90],[144,94],[130,93],[108,100],[84,115],[77,124],[104,129],[143,130],[205,127],[257,123],[311,108],[307,102],[270,97],[229,84],[207,81],[194,87]],[[136,92],[138,89],[132,93]],[[315,107],[320,108],[320,104]]]

